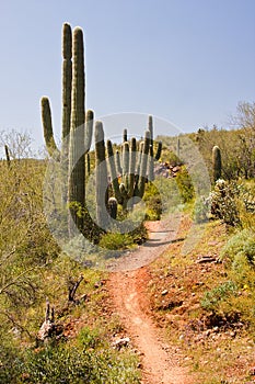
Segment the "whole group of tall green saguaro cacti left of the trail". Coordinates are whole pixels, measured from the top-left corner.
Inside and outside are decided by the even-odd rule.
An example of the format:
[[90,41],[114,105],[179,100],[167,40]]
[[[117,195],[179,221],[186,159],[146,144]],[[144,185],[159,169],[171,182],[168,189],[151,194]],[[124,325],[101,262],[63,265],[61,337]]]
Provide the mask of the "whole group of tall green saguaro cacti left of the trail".
[[[49,99],[43,97],[40,103],[45,143],[49,156],[60,165],[61,204],[63,207],[67,205],[69,207],[69,234],[72,235],[76,233],[73,228],[83,231],[88,223],[91,223],[90,217],[84,217],[82,213],[86,212],[83,210],[86,208],[85,173],[90,173],[89,151],[94,116],[90,110],[85,113],[84,46],[83,32],[80,27],[72,31],[68,23],[65,23],[62,27],[62,140],[60,148],[57,147],[54,138]],[[132,197],[142,199],[147,180],[153,180],[153,162],[160,158],[162,145],[159,143],[154,155],[152,116],[149,116],[149,128],[139,150],[136,138],[128,142],[127,129],[124,129],[121,150],[116,151],[115,155],[111,140],[107,140],[105,147],[102,122],[95,122],[94,135],[96,224],[100,228],[106,228],[108,213],[116,218],[117,204],[121,204],[126,211],[130,201],[130,207],[132,207],[135,203]],[[107,176],[107,163],[111,180]],[[112,194],[108,193],[109,190],[113,191]]]

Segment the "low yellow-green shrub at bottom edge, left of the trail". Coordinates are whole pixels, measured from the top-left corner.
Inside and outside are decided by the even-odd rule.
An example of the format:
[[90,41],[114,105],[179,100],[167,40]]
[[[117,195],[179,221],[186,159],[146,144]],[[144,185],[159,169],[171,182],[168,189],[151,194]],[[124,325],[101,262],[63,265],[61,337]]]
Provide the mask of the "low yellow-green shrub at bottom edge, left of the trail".
[[[78,345],[46,346],[27,350],[22,377],[26,383],[139,383],[137,359],[100,345],[90,331],[79,336]],[[89,341],[89,345],[86,345]],[[23,381],[21,381],[23,382]]]

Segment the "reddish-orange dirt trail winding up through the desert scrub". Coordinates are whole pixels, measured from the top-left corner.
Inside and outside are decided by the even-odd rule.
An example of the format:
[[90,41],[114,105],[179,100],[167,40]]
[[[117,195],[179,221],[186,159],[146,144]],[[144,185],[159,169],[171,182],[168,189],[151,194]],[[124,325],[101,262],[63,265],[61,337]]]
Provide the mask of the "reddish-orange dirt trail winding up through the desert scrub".
[[[150,224],[150,241],[116,264],[118,272],[111,273],[108,290],[116,313],[128,336],[142,357],[143,384],[192,384],[187,371],[179,365],[181,357],[174,347],[163,342],[163,337],[150,317],[146,287],[150,275],[148,264],[159,257],[175,239],[176,222]],[[176,226],[175,226],[176,228]],[[131,257],[130,257],[131,256]],[[142,267],[144,266],[144,267]],[[137,267],[137,268],[136,268]]]

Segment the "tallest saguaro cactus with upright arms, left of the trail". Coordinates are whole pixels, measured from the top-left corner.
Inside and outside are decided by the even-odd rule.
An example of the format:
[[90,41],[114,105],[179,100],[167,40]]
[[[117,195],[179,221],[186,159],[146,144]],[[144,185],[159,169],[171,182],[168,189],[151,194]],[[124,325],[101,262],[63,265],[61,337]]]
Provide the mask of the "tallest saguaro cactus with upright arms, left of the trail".
[[[42,98],[42,120],[48,154],[61,162],[62,201],[70,204],[71,217],[82,229],[82,215],[77,205],[85,203],[85,155],[90,150],[93,112],[85,114],[85,76],[83,32],[72,32],[67,23],[62,29],[62,144],[58,149],[54,139],[51,112],[48,98]],[[72,203],[76,203],[76,208]]]

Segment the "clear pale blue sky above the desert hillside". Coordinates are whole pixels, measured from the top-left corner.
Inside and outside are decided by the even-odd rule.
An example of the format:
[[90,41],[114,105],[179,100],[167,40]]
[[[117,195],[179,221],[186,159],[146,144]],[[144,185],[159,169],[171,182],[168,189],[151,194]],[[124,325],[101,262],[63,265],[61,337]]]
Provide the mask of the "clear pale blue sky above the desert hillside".
[[255,101],[255,0],[0,0],[0,131],[43,145],[48,95],[60,136],[63,22],[84,31],[96,117],[148,113],[194,132]]

